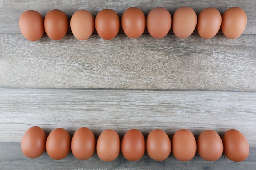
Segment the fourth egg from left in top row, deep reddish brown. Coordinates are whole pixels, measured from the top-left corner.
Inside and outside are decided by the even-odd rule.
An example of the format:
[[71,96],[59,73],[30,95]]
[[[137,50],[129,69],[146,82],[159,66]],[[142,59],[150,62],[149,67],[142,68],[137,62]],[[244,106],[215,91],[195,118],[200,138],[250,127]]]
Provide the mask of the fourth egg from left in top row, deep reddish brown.
[[95,29],[104,40],[115,38],[120,28],[120,20],[112,9],[103,9],[95,17]]

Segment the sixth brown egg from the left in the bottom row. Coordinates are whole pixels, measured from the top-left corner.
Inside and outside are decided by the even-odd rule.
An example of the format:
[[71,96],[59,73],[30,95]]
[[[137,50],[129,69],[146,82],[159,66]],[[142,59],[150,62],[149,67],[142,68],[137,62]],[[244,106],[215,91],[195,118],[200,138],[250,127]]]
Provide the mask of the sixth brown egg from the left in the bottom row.
[[171,140],[163,130],[152,130],[146,140],[146,149],[150,158],[163,161],[171,153]]

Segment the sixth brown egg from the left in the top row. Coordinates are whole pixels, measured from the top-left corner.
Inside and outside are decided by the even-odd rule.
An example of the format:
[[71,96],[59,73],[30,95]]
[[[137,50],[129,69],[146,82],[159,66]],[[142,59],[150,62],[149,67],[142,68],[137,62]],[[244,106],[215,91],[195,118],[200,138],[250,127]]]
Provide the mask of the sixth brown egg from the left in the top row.
[[157,7],[152,9],[147,16],[147,29],[154,38],[163,38],[171,29],[171,14],[167,9]]

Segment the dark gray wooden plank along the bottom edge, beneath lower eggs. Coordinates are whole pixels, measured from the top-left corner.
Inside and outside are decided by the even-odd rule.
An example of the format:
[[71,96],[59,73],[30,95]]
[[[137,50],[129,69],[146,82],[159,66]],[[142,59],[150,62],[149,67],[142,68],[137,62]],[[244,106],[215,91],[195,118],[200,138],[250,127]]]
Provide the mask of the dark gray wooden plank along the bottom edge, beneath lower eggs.
[[55,161],[45,152],[36,159],[25,157],[20,149],[20,143],[0,143],[1,170],[255,170],[256,148],[250,147],[250,154],[243,162],[232,162],[225,155],[217,161],[204,161],[195,155],[187,162],[177,161],[171,154],[164,161],[154,161],[146,153],[139,161],[127,161],[121,154],[111,162],[104,162],[95,153],[90,159],[79,161],[72,153],[62,160]]

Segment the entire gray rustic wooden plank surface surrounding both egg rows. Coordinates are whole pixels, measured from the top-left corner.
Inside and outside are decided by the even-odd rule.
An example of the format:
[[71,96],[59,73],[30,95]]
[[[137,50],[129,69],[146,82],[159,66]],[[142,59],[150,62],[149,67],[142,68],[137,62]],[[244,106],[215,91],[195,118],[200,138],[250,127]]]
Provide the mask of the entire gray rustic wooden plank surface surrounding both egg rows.
[[[102,40],[96,32],[85,41],[71,31],[61,41],[47,35],[29,42],[20,33],[18,20],[29,9],[43,16],[52,9],[70,18],[79,9],[94,16],[110,8],[121,18],[128,7],[147,13],[165,7],[173,15],[182,6],[198,14],[215,7],[223,13],[241,7],[247,27],[235,40],[221,31],[204,40],[196,33],[179,39],[170,31],[162,39],[147,31],[138,39],[120,30],[113,40]],[[247,169],[256,166],[256,1],[255,0],[0,0],[0,169]],[[136,162],[121,154],[103,162],[95,154],[86,161],[72,153],[55,161],[47,153],[28,159],[20,149],[24,132],[31,126],[47,134],[65,128],[70,135],[86,126],[96,136],[112,128],[120,137],[138,128],[145,137],[161,128],[172,137],[187,128],[197,137],[206,129],[220,136],[230,128],[240,130],[250,145],[249,157],[234,163],[223,155],[208,162],[196,155],[180,162],[170,155],[156,162],[145,153]]]

